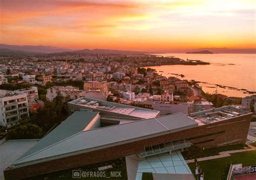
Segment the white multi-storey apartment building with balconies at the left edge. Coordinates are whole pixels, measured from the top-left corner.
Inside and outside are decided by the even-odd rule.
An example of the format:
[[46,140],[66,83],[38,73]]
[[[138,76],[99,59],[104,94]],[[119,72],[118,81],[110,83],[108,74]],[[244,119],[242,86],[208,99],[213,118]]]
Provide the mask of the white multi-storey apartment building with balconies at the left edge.
[[29,117],[26,94],[17,91],[0,90],[0,125],[13,126],[20,119]]

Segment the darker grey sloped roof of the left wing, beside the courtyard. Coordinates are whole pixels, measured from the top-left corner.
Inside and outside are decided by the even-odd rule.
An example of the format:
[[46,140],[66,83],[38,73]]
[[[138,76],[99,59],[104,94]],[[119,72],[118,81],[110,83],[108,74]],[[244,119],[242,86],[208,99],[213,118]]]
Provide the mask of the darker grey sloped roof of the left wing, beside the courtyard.
[[[70,137],[71,135],[77,134],[91,122],[91,120],[99,112],[85,112],[85,111],[76,111],[66,120],[62,121],[55,129],[53,129],[49,134],[42,138],[37,145],[33,146],[25,154],[23,154],[19,159],[38,152],[41,149],[49,147],[56,142],[59,142],[63,139]],[[19,160],[18,159],[18,160]]]

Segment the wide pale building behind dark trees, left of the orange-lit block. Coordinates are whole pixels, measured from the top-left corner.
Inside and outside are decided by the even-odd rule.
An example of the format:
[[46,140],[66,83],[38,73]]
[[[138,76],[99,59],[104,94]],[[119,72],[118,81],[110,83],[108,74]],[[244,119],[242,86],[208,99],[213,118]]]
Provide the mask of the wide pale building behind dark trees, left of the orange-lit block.
[[[55,86],[47,89],[46,98],[48,100],[53,100],[58,95],[58,92],[64,98],[69,98],[72,100],[75,100],[80,97],[84,97],[85,94],[87,93],[86,91],[79,90],[78,88],[72,87],[72,86],[67,86],[67,87]],[[66,100],[69,100],[69,99],[66,99]]]

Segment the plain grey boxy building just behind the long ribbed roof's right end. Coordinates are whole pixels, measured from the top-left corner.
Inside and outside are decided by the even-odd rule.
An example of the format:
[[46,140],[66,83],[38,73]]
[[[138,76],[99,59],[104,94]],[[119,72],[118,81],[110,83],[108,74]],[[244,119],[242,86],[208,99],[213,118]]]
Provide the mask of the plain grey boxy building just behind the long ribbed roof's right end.
[[154,102],[153,110],[160,111],[160,116],[172,113],[181,112],[183,114],[188,113],[187,103],[174,103],[174,102]]

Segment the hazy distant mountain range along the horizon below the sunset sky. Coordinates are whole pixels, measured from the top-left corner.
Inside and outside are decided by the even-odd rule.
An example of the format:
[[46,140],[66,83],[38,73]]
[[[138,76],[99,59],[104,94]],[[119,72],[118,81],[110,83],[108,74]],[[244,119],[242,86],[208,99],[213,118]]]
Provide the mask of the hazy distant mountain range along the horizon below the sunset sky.
[[[140,54],[157,54],[157,53],[186,53],[186,52],[213,52],[220,54],[256,54],[256,48],[198,48],[198,49],[166,49],[165,51],[156,52],[139,52],[139,51],[119,51],[110,49],[69,49],[53,46],[18,46],[0,44],[1,55],[33,55],[33,54],[102,54],[102,55],[140,55]],[[201,53],[200,53],[201,54]],[[205,54],[205,53],[203,53]]]

